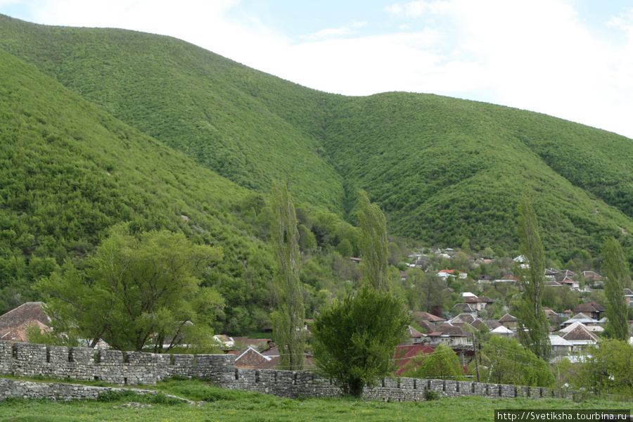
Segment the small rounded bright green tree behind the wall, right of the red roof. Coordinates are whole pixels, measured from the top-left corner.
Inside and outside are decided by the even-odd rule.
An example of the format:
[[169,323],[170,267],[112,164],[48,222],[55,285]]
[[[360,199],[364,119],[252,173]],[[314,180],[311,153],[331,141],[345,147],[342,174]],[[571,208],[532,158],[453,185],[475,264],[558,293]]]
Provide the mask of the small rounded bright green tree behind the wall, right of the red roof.
[[404,366],[402,376],[466,381],[459,357],[450,347],[437,345],[431,354],[418,354]]

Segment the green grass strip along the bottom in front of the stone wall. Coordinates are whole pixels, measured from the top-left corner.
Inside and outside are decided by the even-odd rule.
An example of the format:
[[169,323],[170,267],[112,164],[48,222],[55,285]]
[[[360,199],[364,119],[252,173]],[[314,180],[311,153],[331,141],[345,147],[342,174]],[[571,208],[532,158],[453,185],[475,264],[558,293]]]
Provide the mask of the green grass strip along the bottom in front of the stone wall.
[[[0,422],[7,421],[494,421],[495,409],[622,409],[606,400],[487,399],[462,397],[432,402],[377,402],[359,399],[282,399],[260,393],[222,390],[202,381],[167,381],[166,394],[195,400],[176,404],[165,396],[127,395],[101,402],[8,400],[0,402]],[[138,403],[138,407],[134,404]]]

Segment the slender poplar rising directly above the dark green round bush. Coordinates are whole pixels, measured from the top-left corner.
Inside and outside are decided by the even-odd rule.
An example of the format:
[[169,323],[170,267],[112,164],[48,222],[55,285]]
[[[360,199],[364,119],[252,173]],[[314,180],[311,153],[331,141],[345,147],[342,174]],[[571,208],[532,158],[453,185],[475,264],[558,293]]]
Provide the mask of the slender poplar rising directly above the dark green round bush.
[[377,290],[388,290],[387,223],[380,207],[369,202],[365,191],[359,192],[363,282]]

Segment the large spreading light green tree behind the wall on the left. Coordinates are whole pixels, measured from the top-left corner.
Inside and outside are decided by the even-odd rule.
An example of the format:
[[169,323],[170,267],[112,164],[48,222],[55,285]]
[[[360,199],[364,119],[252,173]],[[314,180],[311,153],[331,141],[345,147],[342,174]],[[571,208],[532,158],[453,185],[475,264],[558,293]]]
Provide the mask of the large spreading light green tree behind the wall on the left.
[[183,234],[132,236],[120,225],[85,270],[67,260],[35,288],[55,317],[56,333],[91,339],[91,347],[103,338],[117,350],[151,345],[162,352],[167,339],[167,350],[183,341],[210,341],[210,324],[224,301],[215,290],[200,288],[197,276],[221,258],[219,248],[194,245]]

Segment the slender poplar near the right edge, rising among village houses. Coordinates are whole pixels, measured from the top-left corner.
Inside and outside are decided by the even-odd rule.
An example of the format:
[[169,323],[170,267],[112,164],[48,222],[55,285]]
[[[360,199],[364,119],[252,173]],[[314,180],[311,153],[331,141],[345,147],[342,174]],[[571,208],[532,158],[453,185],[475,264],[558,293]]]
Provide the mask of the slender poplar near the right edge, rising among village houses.
[[608,325],[617,340],[629,339],[628,309],[624,289],[630,283],[629,267],[625,260],[620,242],[613,236],[605,239],[602,245],[602,270],[606,276],[604,295]]

